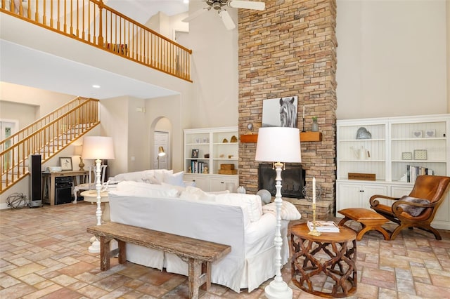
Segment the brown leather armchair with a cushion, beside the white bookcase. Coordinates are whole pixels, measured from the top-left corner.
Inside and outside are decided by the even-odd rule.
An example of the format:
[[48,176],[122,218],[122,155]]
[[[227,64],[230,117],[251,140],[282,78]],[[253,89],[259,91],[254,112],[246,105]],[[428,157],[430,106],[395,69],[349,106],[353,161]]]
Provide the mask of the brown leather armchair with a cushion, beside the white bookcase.
[[[435,234],[437,240],[442,239],[437,230],[431,227],[437,208],[446,198],[450,189],[450,177],[439,175],[419,175],[414,183],[413,190],[407,196],[394,198],[385,195],[373,195],[371,208],[385,218],[397,223],[391,234],[391,240],[406,227],[417,227],[421,230]],[[377,199],[390,199],[394,201],[392,206],[380,204]]]

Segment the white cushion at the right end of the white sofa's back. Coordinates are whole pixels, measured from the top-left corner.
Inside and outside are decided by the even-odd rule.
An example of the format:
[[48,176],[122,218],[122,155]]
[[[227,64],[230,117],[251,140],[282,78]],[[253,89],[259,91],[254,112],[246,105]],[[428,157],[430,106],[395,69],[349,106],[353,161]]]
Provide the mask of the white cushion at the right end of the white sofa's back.
[[215,201],[219,204],[246,207],[248,211],[248,218],[251,222],[257,221],[261,218],[262,203],[259,195],[242,193],[217,194]]

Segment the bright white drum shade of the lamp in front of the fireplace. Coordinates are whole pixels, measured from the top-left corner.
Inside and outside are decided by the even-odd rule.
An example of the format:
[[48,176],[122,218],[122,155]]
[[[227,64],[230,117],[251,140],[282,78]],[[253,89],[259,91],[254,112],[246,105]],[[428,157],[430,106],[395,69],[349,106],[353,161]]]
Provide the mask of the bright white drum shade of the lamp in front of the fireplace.
[[259,128],[256,161],[300,163],[300,130],[287,127]]

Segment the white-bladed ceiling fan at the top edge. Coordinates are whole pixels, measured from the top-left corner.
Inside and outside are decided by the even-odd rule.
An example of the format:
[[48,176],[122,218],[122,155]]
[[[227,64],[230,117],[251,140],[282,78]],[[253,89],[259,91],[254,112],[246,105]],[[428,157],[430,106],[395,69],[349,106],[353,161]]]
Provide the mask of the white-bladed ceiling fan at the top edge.
[[236,25],[233,22],[233,19],[231,18],[228,11],[226,11],[226,8],[224,6],[228,6],[231,8],[247,8],[247,9],[255,9],[257,11],[264,11],[264,8],[266,7],[266,4],[264,2],[259,1],[238,1],[238,0],[202,0],[207,4],[207,7],[202,8],[198,11],[193,12],[191,15],[188,16],[188,18],[184,18],[182,20],[183,22],[190,22],[191,20],[197,18],[199,15],[205,13],[206,11],[210,11],[211,8],[214,8],[217,13],[219,13],[219,17],[221,18],[222,22],[224,22],[224,25],[226,29],[231,30],[236,27]]

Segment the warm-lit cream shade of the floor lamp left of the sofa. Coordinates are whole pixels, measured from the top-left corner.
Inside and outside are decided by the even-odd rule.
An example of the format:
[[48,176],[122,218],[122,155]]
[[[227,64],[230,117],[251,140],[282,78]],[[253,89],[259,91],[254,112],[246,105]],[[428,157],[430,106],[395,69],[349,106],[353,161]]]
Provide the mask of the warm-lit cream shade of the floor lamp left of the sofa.
[[82,159],[114,159],[113,138],[105,136],[84,137]]

